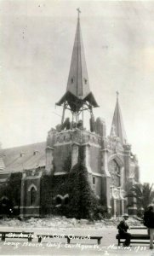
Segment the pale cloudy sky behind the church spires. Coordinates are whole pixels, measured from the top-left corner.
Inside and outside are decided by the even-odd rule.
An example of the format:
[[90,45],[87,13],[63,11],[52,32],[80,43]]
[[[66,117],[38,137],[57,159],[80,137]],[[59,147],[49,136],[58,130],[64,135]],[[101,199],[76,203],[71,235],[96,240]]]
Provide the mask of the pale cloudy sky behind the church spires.
[[154,2],[0,1],[0,141],[3,148],[46,140],[60,123],[55,102],[66,91],[81,27],[88,80],[107,133],[120,92],[128,143],[142,182],[154,181]]

